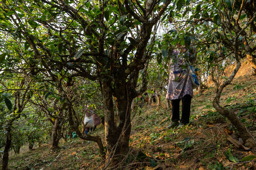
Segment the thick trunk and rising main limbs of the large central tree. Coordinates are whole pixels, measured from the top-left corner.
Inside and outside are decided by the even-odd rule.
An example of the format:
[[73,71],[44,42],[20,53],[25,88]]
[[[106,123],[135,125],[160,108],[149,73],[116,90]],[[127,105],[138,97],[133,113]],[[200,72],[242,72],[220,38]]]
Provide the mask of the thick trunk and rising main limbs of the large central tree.
[[[111,48],[107,56],[107,62],[106,60],[98,60],[97,62],[99,63],[97,65],[98,76],[100,77],[103,93],[106,153],[108,157],[117,154],[126,154],[129,151],[131,104],[133,98],[146,90],[145,81],[143,81],[139,90],[136,89],[139,71],[144,69],[143,80],[145,80],[147,68],[145,66],[149,59],[145,51],[151,38],[152,27],[160,19],[170,2],[170,0],[166,0],[158,15],[150,18],[151,12],[156,5],[153,1],[146,2],[146,9],[143,9],[143,17],[141,17],[134,13],[130,2],[124,0],[123,7],[134,19],[142,23],[139,26],[140,29],[137,31],[137,38],[135,36],[134,38],[129,37],[129,40],[132,39],[131,43],[122,49],[121,44],[125,42],[129,33],[122,34],[120,37],[117,37]],[[121,6],[121,4],[119,5]],[[131,53],[133,53],[132,56],[130,56]],[[114,104],[117,108],[118,120],[114,119]]]

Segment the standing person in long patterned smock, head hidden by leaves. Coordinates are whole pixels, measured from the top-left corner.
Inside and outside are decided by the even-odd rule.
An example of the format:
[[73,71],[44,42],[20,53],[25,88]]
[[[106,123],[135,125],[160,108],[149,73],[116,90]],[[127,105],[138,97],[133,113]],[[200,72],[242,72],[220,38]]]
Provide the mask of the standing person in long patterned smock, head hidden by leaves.
[[[186,66],[188,60],[192,64],[197,58],[194,47],[182,47],[177,44],[178,51],[171,53],[171,71],[168,83],[166,99],[171,100],[171,125],[168,128],[177,128],[187,125],[190,121],[190,105],[193,97],[193,87],[190,80],[190,73]],[[180,100],[182,111],[180,119]],[[180,122],[179,122],[180,121]]]

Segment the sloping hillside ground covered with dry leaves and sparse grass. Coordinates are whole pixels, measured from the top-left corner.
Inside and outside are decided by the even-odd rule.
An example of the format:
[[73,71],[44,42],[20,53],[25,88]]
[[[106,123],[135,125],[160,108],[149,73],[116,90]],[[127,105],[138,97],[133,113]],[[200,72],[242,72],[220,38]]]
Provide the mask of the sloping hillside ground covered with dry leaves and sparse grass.
[[[137,110],[132,120],[130,152],[113,159],[109,170],[256,170],[256,148],[239,143],[237,130],[212,106],[216,88],[194,93],[190,124],[180,129],[166,128],[171,123],[171,110],[166,101],[161,106],[149,105]],[[164,98],[164,96],[163,96]],[[232,109],[256,136],[256,76],[239,76],[228,85],[220,99],[221,105]],[[133,113],[134,114],[134,113]],[[104,128],[92,135],[104,140]],[[10,170],[100,170],[95,142],[79,138],[62,141],[58,151],[49,145],[33,151],[22,151],[9,158]],[[245,162],[245,163],[241,163]],[[118,167],[114,167],[120,163]]]

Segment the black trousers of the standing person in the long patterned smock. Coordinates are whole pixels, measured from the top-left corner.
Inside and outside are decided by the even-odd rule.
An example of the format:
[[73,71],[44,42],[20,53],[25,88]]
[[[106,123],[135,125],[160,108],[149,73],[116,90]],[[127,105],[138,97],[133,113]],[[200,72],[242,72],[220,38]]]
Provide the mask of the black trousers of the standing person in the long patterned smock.
[[190,105],[192,97],[189,94],[186,94],[182,97],[182,110],[181,110],[181,119],[180,119],[180,99],[171,100],[171,112],[172,117],[171,121],[179,121],[183,124],[188,124],[190,122]]

